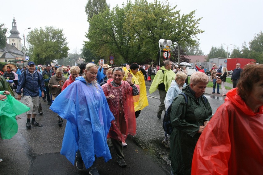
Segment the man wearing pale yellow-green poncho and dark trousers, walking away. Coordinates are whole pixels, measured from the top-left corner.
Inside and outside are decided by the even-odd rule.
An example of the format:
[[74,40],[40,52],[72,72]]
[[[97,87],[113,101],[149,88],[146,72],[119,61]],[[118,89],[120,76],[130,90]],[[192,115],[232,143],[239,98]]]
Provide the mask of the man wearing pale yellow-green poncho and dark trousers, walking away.
[[155,75],[152,81],[152,85],[149,89],[150,94],[152,92],[155,92],[157,88],[159,90],[161,104],[159,105],[159,109],[157,113],[158,119],[161,119],[162,112],[165,109],[164,100],[166,97],[166,92],[168,91],[172,80],[175,80],[175,73],[171,69],[172,69],[172,62],[166,60],[164,62],[164,66],[161,67],[159,71],[157,71],[157,74]]

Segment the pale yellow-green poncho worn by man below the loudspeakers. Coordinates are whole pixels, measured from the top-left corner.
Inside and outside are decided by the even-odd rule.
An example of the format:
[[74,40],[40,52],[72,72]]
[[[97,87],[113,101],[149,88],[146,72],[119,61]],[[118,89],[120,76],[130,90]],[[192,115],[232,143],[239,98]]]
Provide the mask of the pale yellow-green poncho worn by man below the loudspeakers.
[[[162,72],[162,70],[164,70],[164,73]],[[172,80],[175,80],[175,75],[176,74],[172,70],[168,71],[167,69],[165,69],[164,66],[161,67],[161,70],[157,71],[157,74],[152,81],[149,92],[152,93],[156,91],[160,83],[165,84],[165,91],[167,92],[172,83]]]

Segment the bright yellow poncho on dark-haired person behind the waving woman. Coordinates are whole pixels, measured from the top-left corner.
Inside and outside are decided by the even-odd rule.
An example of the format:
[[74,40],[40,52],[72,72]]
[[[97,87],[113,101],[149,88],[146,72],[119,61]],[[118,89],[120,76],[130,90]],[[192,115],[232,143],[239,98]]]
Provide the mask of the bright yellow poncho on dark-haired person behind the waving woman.
[[134,102],[134,111],[139,111],[148,106],[148,99],[146,96],[146,86],[144,82],[144,75],[141,71],[138,71],[135,75],[131,72],[131,70],[127,70],[126,67],[123,67],[123,70],[125,71],[125,76],[123,77],[123,80],[126,80],[127,74],[130,71],[132,75],[132,83],[137,84],[140,86],[140,97],[139,101]]

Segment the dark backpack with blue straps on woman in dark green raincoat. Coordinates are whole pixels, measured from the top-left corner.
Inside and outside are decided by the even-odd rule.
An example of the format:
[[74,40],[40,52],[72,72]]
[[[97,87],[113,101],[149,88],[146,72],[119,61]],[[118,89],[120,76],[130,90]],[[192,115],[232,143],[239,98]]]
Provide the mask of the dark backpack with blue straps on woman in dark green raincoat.
[[[185,93],[183,93],[183,92],[181,94],[179,94],[179,95],[184,96],[185,101],[186,101],[186,107],[187,107],[187,103],[188,103],[187,95]],[[205,103],[207,104],[207,98],[205,96],[202,96],[202,97],[203,97]],[[165,132],[168,133],[169,135],[171,135],[172,132],[173,132],[173,127],[172,127],[172,124],[171,124],[171,108],[172,108],[172,104],[166,110],[165,116],[164,116],[164,119],[163,119],[163,128],[164,128]]]

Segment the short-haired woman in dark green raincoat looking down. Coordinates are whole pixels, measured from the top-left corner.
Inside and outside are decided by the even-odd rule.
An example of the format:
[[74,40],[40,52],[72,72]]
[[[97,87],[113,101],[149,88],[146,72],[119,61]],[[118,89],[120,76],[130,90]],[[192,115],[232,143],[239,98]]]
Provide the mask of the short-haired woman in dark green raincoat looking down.
[[191,174],[195,144],[212,117],[212,108],[203,96],[208,82],[209,78],[205,73],[193,73],[190,85],[182,90],[186,97],[178,95],[173,100],[173,132],[170,136],[172,174]]

